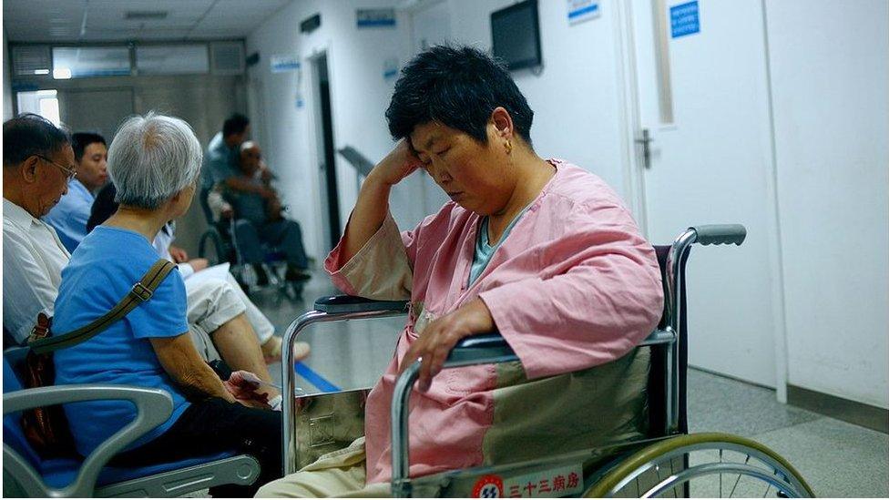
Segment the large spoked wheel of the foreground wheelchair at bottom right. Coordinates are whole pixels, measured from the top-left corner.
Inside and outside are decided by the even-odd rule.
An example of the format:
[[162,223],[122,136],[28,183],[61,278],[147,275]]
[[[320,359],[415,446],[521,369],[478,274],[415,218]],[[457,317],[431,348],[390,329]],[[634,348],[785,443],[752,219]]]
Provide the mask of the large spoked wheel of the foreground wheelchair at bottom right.
[[602,473],[592,497],[812,497],[778,454],[731,434],[688,434],[650,444]]

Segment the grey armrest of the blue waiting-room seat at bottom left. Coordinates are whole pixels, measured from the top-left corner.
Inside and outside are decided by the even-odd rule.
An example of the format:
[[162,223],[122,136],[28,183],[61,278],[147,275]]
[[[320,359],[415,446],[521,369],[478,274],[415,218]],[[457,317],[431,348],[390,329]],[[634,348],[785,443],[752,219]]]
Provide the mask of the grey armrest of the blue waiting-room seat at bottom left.
[[3,395],[4,414],[21,412],[39,406],[97,400],[123,400],[133,403],[136,406],[136,418],[104,443],[99,444],[80,466],[77,478],[65,488],[56,489],[44,485],[40,474],[37,474],[22,456],[4,444],[4,469],[19,480],[28,495],[50,497],[91,495],[95,489],[99,472],[111,457],[161,423],[167,422],[169,415],[173,413],[173,399],[169,393],[160,389],[103,384],[39,387]]

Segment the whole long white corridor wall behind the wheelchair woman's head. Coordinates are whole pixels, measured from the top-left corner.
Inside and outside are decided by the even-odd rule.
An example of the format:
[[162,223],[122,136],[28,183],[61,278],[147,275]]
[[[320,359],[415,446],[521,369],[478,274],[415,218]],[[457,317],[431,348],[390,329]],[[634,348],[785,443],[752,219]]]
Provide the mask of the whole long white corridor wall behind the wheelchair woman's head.
[[[265,117],[258,127],[272,168],[286,187],[291,214],[301,221],[306,245],[316,257],[324,251],[321,227],[315,132],[309,60],[316,51],[329,51],[332,80],[332,113],[336,148],[352,145],[368,158],[383,158],[393,143],[383,113],[389,104],[393,79],[383,78],[383,63],[396,57],[400,66],[414,55],[411,15],[399,13],[396,29],[355,28],[356,7],[397,5],[400,2],[348,0],[321,2],[305,0],[273,15],[247,39],[248,53],[259,51],[261,62],[251,68],[251,85],[261,86]],[[510,5],[507,0],[445,1],[451,15],[451,41],[491,46],[490,13]],[[564,2],[540,3],[541,46],[544,70],[539,76],[524,70],[514,73],[516,83],[535,110],[531,136],[542,157],[565,158],[605,179],[618,193],[628,197],[622,173],[621,129],[616,87],[615,33],[610,4],[603,13],[577,26],[568,26]],[[301,35],[299,22],[320,12],[322,26]],[[272,74],[274,54],[301,58],[302,77],[295,73]],[[293,102],[301,91],[306,107]],[[251,113],[254,112],[251,107]],[[357,195],[351,167],[337,157],[342,224]],[[411,227],[423,213],[416,199],[422,197],[419,179],[410,179],[393,191],[393,216],[402,227]],[[428,196],[428,195],[427,195]]]

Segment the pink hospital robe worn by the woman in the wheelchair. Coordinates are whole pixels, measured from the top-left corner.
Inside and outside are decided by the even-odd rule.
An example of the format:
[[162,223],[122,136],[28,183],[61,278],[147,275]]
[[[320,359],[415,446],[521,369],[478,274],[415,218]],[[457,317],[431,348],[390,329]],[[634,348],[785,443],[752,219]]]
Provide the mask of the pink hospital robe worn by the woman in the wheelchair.
[[[400,234],[390,216],[352,260],[342,262],[341,241],[325,261],[333,283],[345,293],[411,301],[393,360],[367,400],[368,484],[390,479],[389,407],[398,363],[434,318],[481,297],[524,372],[509,375],[493,365],[449,369],[434,378],[428,393],[414,392],[412,477],[491,463],[488,455],[494,452],[486,441],[509,420],[498,413],[499,391],[618,360],[659,321],[658,262],[628,209],[598,177],[561,160],[550,162],[556,174],[472,285],[467,281],[480,216],[454,202]],[[621,373],[610,375],[614,383],[608,385],[619,386],[630,376]],[[543,394],[567,394],[571,386],[558,383]],[[510,408],[517,410],[510,412],[546,412],[540,410],[548,407],[546,401],[526,401],[549,399],[537,394],[514,401]],[[570,396],[567,402],[577,399]],[[548,423],[540,425],[549,427],[541,439],[555,433]]]

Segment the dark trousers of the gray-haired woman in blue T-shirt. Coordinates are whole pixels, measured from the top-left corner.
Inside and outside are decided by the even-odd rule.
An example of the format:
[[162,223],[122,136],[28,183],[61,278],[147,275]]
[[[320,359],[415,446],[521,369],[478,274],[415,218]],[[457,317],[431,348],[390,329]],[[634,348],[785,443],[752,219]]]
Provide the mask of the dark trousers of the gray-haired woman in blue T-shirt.
[[281,413],[220,398],[191,403],[166,433],[118,454],[111,464],[144,466],[226,451],[256,458],[261,467],[260,477],[249,486],[210,488],[210,495],[252,497],[261,485],[281,477]]

